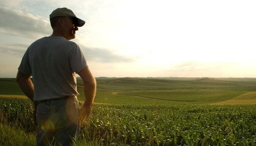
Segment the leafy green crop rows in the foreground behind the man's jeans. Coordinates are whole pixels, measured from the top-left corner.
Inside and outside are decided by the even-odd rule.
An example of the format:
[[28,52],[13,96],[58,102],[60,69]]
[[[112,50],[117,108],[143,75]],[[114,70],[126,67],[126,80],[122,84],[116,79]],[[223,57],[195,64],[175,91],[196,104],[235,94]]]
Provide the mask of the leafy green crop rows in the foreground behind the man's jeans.
[[[1,122],[34,132],[32,103],[0,98]],[[256,105],[95,104],[79,141],[99,145],[256,145]]]

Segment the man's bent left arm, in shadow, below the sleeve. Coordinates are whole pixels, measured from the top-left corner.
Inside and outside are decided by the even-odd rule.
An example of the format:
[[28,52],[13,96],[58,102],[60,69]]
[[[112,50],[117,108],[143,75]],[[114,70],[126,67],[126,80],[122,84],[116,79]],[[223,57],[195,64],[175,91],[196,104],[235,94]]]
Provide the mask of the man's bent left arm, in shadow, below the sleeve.
[[18,82],[20,89],[25,93],[30,100],[34,98],[34,84],[30,80],[31,76],[26,76],[22,72],[18,71],[16,76],[16,82]]

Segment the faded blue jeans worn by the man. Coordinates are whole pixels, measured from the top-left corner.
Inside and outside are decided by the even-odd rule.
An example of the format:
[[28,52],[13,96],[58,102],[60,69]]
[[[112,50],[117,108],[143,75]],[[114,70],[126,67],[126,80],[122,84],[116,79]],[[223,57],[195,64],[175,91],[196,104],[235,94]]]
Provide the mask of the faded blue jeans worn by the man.
[[78,138],[77,99],[47,100],[37,105],[37,146],[70,146]]

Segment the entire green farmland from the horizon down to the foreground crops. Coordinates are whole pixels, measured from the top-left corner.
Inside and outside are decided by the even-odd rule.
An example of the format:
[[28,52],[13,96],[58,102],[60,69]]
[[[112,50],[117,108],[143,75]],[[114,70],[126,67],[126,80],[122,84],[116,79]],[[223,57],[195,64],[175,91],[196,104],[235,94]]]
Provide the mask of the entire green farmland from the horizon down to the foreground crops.
[[[78,78],[80,101],[82,85]],[[100,77],[103,104],[76,145],[256,145],[255,91],[256,78]],[[34,145],[32,111],[15,79],[0,78],[0,145]]]

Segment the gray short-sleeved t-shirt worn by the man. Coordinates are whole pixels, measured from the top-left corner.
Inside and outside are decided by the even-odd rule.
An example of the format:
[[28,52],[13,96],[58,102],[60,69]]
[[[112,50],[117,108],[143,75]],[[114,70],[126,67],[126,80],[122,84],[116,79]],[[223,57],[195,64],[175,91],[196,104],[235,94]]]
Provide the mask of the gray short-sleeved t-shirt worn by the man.
[[79,46],[63,37],[44,37],[32,43],[18,70],[33,77],[34,100],[77,96],[76,73],[87,63]]

